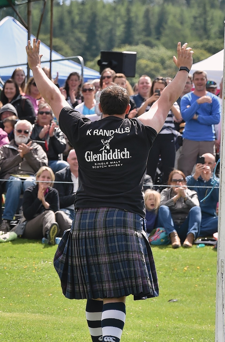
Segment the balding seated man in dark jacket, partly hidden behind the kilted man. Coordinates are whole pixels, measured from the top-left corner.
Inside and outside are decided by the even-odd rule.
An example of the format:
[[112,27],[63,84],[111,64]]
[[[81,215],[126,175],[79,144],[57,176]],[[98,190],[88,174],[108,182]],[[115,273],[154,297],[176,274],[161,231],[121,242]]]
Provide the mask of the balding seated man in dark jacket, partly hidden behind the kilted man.
[[58,190],[60,210],[64,211],[69,218],[74,218],[74,201],[78,189],[78,161],[74,149],[69,151],[67,162],[69,166],[55,173],[56,182],[54,188]]

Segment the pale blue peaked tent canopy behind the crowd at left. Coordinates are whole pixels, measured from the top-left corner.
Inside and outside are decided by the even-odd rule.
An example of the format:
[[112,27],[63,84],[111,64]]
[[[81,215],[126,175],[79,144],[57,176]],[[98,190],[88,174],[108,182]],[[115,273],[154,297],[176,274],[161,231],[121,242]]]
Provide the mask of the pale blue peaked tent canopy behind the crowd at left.
[[[31,35],[31,42],[35,38]],[[15,70],[15,65],[21,67],[26,74],[26,63],[27,54],[25,46],[27,45],[27,30],[22,26],[16,19],[11,16],[5,17],[0,21],[0,77],[5,81],[12,76]],[[44,61],[50,60],[50,48],[41,43],[40,54],[43,55],[41,58],[41,66],[49,67],[49,62]],[[61,54],[52,51],[52,60],[59,60],[65,58]],[[13,67],[9,67],[14,65]],[[56,73],[59,74],[59,84],[64,85],[68,75],[76,71],[81,74],[81,65],[71,60],[62,60],[52,62],[52,77],[56,77]],[[30,71],[32,76],[32,71]],[[84,67],[83,69],[84,82],[100,78],[100,74],[90,68]]]

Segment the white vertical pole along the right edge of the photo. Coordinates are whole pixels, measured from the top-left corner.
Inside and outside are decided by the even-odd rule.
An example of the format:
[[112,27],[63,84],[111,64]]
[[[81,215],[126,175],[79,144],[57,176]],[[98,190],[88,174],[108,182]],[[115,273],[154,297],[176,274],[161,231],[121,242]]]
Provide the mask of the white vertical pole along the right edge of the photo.
[[[225,51],[225,40],[224,40]],[[219,195],[219,220],[218,220],[218,245],[217,245],[217,277],[216,277],[216,320],[215,342],[225,342],[225,54],[223,65],[223,101],[221,121],[221,145],[220,145],[220,195]]]

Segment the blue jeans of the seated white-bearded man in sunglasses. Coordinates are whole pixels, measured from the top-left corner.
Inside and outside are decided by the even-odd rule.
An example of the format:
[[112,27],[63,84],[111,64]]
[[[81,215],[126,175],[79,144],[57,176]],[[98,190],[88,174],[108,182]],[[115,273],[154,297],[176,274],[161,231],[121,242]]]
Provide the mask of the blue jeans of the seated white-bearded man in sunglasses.
[[6,196],[2,219],[12,221],[19,205],[19,196],[26,190],[26,188],[36,184],[36,178],[31,176],[26,180],[21,180],[20,178],[10,176],[9,180],[12,182],[6,181],[4,184]]

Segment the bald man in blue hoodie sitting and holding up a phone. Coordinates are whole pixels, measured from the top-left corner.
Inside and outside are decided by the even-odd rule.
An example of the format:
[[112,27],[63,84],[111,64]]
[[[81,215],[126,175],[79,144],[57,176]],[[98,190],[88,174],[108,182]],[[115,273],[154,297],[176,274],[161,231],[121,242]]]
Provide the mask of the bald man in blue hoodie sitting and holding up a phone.
[[[217,180],[216,187],[212,190],[211,194],[203,202],[211,190],[212,172],[216,165],[215,157],[211,153],[205,153],[204,164],[197,163],[195,173],[186,177],[187,186],[196,186],[191,188],[198,194],[200,208],[202,212],[201,226],[199,236],[212,236],[218,231],[218,216],[216,215],[216,204],[219,201],[219,179]],[[198,188],[197,186],[202,186]]]

